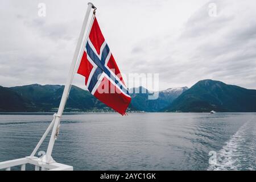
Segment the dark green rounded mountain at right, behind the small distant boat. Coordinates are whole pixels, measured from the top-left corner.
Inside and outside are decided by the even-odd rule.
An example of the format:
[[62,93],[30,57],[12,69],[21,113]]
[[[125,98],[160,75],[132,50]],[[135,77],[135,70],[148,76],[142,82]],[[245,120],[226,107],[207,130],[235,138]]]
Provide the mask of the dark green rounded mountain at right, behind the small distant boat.
[[227,85],[221,81],[201,80],[176,98],[165,111],[255,112],[256,90]]

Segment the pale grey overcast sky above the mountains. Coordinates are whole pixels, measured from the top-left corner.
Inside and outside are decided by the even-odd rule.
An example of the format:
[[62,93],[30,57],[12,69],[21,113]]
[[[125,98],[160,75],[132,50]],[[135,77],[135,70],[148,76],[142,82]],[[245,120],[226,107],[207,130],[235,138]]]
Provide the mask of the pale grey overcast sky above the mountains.
[[[255,0],[93,3],[122,73],[159,73],[160,90],[206,78],[256,89]],[[217,16],[209,16],[210,3]],[[86,7],[84,0],[0,0],[0,85],[65,84]],[[74,84],[85,88],[81,76]]]

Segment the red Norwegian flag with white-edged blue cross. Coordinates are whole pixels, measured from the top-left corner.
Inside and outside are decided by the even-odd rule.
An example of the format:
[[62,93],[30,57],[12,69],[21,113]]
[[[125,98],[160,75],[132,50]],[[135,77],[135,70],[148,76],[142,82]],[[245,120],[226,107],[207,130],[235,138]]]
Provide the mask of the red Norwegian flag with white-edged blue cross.
[[95,16],[77,73],[85,77],[85,85],[94,97],[126,114],[131,97]]

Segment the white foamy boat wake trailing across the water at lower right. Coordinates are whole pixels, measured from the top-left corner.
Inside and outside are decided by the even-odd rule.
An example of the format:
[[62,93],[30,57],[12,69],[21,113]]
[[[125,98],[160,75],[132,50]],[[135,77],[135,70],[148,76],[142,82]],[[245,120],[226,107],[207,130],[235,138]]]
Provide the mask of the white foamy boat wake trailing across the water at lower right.
[[217,164],[211,164],[208,170],[255,170],[255,134],[255,122],[251,119],[217,152]]

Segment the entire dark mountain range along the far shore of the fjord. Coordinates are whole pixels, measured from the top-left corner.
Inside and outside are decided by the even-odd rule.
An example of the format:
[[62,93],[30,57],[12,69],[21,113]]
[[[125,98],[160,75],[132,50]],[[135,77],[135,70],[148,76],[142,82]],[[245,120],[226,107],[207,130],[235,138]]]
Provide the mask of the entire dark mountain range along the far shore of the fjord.
[[[201,80],[190,89],[170,88],[158,92],[157,100],[148,100],[151,92],[131,92],[128,111],[183,111],[183,112],[255,112],[256,90],[227,85],[221,81]],[[0,86],[1,112],[54,112],[60,104],[63,85],[25,85],[6,88]],[[130,91],[135,88],[130,89]],[[72,86],[65,106],[67,112],[112,111],[88,91]]]

